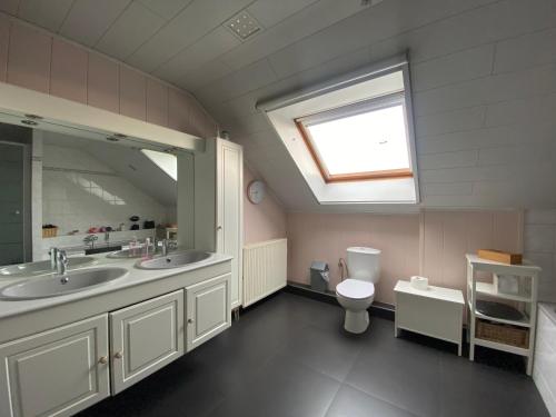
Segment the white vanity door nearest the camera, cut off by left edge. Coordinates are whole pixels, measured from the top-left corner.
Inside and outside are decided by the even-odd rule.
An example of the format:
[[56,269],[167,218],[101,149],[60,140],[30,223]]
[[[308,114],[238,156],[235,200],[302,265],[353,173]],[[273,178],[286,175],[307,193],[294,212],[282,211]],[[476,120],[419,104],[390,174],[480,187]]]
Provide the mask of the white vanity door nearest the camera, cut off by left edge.
[[1,416],[70,416],[110,395],[108,315],[0,346]]

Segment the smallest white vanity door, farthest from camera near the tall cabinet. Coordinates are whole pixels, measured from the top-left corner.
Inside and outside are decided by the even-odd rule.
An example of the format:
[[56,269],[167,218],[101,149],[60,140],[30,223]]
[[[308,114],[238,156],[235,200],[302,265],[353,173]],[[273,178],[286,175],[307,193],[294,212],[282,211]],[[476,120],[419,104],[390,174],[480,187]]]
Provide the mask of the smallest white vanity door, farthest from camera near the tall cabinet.
[[230,274],[186,288],[187,351],[231,325]]

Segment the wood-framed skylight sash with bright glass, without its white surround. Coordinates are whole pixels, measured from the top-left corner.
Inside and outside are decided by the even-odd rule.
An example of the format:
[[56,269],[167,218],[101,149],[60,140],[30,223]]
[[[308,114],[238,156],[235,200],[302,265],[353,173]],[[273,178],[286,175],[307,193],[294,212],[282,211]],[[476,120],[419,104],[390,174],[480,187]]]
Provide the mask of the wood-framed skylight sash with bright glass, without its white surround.
[[411,177],[403,96],[296,119],[326,182]]

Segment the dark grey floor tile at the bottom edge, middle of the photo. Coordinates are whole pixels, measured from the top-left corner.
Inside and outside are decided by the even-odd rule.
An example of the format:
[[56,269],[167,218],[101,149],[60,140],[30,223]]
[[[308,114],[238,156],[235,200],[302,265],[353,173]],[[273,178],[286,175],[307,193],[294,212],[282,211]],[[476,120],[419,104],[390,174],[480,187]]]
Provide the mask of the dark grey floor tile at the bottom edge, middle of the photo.
[[320,417],[339,387],[335,379],[277,356],[209,416]]

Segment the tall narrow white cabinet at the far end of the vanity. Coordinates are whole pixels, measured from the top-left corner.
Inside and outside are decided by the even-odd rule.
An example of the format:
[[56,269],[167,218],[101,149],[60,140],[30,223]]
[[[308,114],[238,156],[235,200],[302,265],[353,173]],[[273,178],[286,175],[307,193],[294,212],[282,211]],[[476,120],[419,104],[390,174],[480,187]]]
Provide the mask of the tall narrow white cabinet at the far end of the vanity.
[[[193,170],[190,165],[193,163]],[[178,162],[179,172],[193,177],[178,187],[178,201],[193,201],[195,209],[178,211],[178,222],[193,225],[196,249],[232,256],[231,301],[242,302],[244,248],[244,151],[240,145],[219,138],[207,139],[206,151]],[[180,175],[178,172],[178,175]],[[180,198],[180,193],[183,197]],[[182,242],[186,244],[185,241]]]

